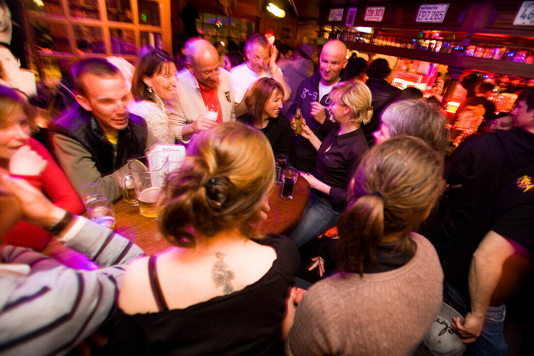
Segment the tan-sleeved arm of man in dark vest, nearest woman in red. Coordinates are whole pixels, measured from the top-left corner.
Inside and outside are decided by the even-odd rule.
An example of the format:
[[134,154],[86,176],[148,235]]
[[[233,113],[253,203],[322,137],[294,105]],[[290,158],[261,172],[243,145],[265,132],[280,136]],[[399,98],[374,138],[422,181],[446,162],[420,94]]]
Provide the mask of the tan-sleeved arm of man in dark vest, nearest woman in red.
[[114,173],[102,176],[91,154],[78,141],[60,133],[52,133],[52,145],[61,168],[78,195],[82,185],[97,183],[104,188],[109,200],[117,200],[122,196]]

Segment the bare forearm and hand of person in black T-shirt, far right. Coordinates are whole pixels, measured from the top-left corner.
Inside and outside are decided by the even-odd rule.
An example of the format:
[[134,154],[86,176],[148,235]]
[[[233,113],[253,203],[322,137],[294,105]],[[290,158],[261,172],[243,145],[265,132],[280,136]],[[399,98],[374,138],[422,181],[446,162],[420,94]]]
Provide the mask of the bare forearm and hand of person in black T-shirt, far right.
[[515,252],[512,243],[493,231],[486,234],[478,245],[469,268],[471,311],[466,314],[464,325],[461,324],[460,318],[454,318],[452,323],[463,338],[462,342],[472,343],[480,335],[505,261]]

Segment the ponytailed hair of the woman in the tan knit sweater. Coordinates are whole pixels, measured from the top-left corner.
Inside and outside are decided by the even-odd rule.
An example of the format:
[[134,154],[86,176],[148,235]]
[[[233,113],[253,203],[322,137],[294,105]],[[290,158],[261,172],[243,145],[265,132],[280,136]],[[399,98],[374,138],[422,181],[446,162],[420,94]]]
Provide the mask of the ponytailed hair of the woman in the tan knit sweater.
[[352,202],[338,221],[336,263],[341,271],[363,273],[384,236],[399,235],[399,250],[410,250],[408,232],[417,230],[441,194],[443,158],[411,136],[374,146],[358,165],[349,189]]

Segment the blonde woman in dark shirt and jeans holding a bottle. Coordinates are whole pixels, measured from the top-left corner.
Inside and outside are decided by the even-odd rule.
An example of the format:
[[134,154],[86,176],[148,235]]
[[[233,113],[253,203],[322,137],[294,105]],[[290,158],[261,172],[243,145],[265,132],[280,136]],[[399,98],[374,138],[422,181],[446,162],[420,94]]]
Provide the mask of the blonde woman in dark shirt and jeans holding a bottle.
[[349,179],[369,148],[362,130],[362,123],[373,115],[369,88],[360,81],[340,82],[329,97],[328,110],[339,126],[321,142],[307,125],[302,125],[302,136],[318,153],[315,176],[301,172],[312,191],[300,224],[289,235],[297,247],[335,225],[348,203]]

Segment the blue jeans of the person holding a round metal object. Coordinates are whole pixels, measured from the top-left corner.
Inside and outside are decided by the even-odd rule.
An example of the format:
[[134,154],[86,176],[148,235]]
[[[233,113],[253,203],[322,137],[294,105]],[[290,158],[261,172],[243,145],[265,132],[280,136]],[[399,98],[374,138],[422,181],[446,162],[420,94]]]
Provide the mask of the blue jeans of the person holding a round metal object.
[[[462,315],[467,314],[467,298],[460,291],[452,287],[447,281],[443,283],[443,302],[452,306]],[[508,345],[502,334],[506,307],[490,306],[484,318],[482,333],[474,343],[466,344],[467,350],[464,355],[476,356],[500,356],[505,355]]]

